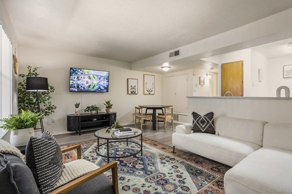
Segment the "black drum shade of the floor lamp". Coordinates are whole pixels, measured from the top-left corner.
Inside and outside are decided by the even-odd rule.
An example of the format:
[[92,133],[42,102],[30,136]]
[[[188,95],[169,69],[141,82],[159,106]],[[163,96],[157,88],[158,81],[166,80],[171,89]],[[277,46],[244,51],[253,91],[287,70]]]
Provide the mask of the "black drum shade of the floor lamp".
[[27,77],[26,78],[26,91],[41,92],[48,91],[48,78],[42,77]]

